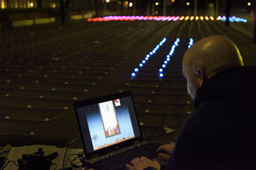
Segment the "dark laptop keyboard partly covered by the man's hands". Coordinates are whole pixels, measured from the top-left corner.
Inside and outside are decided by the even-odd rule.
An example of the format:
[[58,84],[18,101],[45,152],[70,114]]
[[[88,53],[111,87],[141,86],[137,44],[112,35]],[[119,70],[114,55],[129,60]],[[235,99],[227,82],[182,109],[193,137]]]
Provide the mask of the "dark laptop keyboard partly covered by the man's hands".
[[94,163],[96,170],[123,170],[127,169],[126,164],[130,163],[132,159],[137,157],[147,157],[154,159],[156,157],[156,148],[160,144],[146,144],[139,146],[133,150],[122,152],[117,155],[111,156],[108,159],[102,159]]

